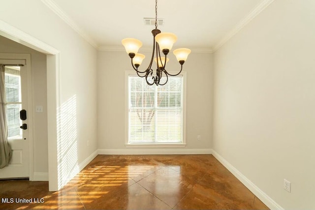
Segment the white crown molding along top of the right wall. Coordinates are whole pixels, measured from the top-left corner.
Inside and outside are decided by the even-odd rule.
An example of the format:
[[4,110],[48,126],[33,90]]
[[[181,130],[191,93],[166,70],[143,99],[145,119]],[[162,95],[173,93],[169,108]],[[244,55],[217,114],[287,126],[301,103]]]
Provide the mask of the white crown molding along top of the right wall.
[[232,30],[230,30],[213,48],[213,52],[216,52],[221,46],[223,46],[229,39],[231,39],[239,30],[243,29],[248,23],[252,21],[261,11],[269,6],[274,0],[263,0],[259,3],[244,19],[242,19]]

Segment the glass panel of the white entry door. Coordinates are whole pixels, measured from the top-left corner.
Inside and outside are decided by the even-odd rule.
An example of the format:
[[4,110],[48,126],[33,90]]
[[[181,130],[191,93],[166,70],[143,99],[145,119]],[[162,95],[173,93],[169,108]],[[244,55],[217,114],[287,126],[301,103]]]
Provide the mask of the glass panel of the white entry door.
[[21,75],[19,66],[5,66],[6,116],[8,139],[22,139],[20,111],[22,110]]

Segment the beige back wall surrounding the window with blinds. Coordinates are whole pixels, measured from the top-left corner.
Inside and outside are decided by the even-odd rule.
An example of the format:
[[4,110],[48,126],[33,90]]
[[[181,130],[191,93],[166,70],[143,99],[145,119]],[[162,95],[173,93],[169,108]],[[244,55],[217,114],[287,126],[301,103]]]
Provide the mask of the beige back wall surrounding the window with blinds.
[[[147,67],[150,53],[141,69]],[[180,70],[170,55],[167,70]],[[125,71],[132,70],[126,52],[98,52],[98,149],[125,150]],[[187,72],[186,149],[211,149],[212,145],[212,54],[191,53]],[[201,135],[201,141],[197,141]],[[126,149],[125,152],[128,152]],[[145,150],[145,149],[144,149]],[[173,150],[175,152],[175,150]]]

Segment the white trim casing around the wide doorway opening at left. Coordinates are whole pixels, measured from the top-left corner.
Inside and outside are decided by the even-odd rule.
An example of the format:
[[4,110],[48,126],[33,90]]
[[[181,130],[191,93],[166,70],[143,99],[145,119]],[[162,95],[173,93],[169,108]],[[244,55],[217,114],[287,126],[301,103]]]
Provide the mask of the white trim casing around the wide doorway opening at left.
[[57,148],[57,116],[59,114],[61,83],[60,83],[60,51],[45,42],[25,33],[14,26],[0,20],[0,35],[17,43],[47,55],[47,122],[48,122],[48,173],[49,191],[58,191],[58,148]]

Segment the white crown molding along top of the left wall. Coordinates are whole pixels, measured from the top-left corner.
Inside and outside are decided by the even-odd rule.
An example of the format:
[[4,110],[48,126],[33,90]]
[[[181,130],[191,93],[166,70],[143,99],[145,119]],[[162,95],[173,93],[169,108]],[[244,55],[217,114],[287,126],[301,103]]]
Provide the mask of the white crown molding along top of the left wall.
[[86,31],[80,28],[53,0],[41,0],[48,8],[50,8],[56,15],[58,15],[66,24],[73,30],[80,34],[87,42],[89,42],[95,49],[98,45],[95,40],[88,35]]

